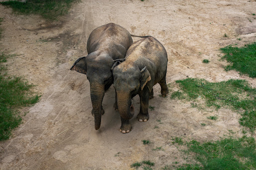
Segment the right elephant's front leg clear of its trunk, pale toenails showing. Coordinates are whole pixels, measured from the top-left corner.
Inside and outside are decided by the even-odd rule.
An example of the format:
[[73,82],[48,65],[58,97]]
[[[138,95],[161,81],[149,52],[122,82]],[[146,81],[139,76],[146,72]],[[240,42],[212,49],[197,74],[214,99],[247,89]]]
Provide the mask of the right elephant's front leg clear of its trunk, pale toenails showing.
[[137,115],[137,120],[139,122],[146,122],[149,119],[148,115],[148,88],[144,88],[142,93],[139,95],[140,98],[140,110]]

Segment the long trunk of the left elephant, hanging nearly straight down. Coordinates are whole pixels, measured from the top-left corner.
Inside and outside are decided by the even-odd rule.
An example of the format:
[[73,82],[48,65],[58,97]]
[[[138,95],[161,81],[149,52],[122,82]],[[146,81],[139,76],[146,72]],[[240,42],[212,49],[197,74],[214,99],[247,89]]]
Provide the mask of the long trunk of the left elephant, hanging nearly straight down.
[[102,109],[102,100],[104,97],[104,85],[98,83],[90,84],[90,99],[92,104],[92,114],[94,115],[95,130],[100,128]]

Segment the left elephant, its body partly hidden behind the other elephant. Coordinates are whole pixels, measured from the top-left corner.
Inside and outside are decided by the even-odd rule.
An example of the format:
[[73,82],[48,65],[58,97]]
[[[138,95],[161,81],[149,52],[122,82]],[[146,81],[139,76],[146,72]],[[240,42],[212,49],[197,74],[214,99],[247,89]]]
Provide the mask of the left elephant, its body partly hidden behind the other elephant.
[[[111,67],[113,60],[123,59],[132,44],[130,33],[114,23],[108,23],[94,29],[87,40],[86,57],[78,58],[71,70],[86,74],[90,83],[91,114],[94,116],[95,129],[101,122],[104,91],[113,83]],[[116,106],[116,101],[114,104]]]

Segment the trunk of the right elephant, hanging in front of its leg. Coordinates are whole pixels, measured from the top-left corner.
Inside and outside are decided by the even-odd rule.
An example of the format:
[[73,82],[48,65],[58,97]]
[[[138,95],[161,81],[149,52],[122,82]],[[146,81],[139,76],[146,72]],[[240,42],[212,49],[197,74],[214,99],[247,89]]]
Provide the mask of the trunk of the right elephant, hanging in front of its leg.
[[134,115],[134,107],[131,104],[131,96],[129,93],[116,92],[117,107],[121,118],[129,120]]

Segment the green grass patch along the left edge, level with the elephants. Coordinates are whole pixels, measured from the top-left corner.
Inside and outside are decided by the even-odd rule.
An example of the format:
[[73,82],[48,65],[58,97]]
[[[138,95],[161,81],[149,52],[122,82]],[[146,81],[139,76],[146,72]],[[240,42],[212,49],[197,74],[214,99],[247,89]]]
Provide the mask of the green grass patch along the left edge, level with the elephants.
[[0,53],[0,141],[8,139],[11,130],[21,123],[17,109],[35,104],[40,97],[31,92],[33,85],[22,77],[7,75],[1,64],[7,57]]

